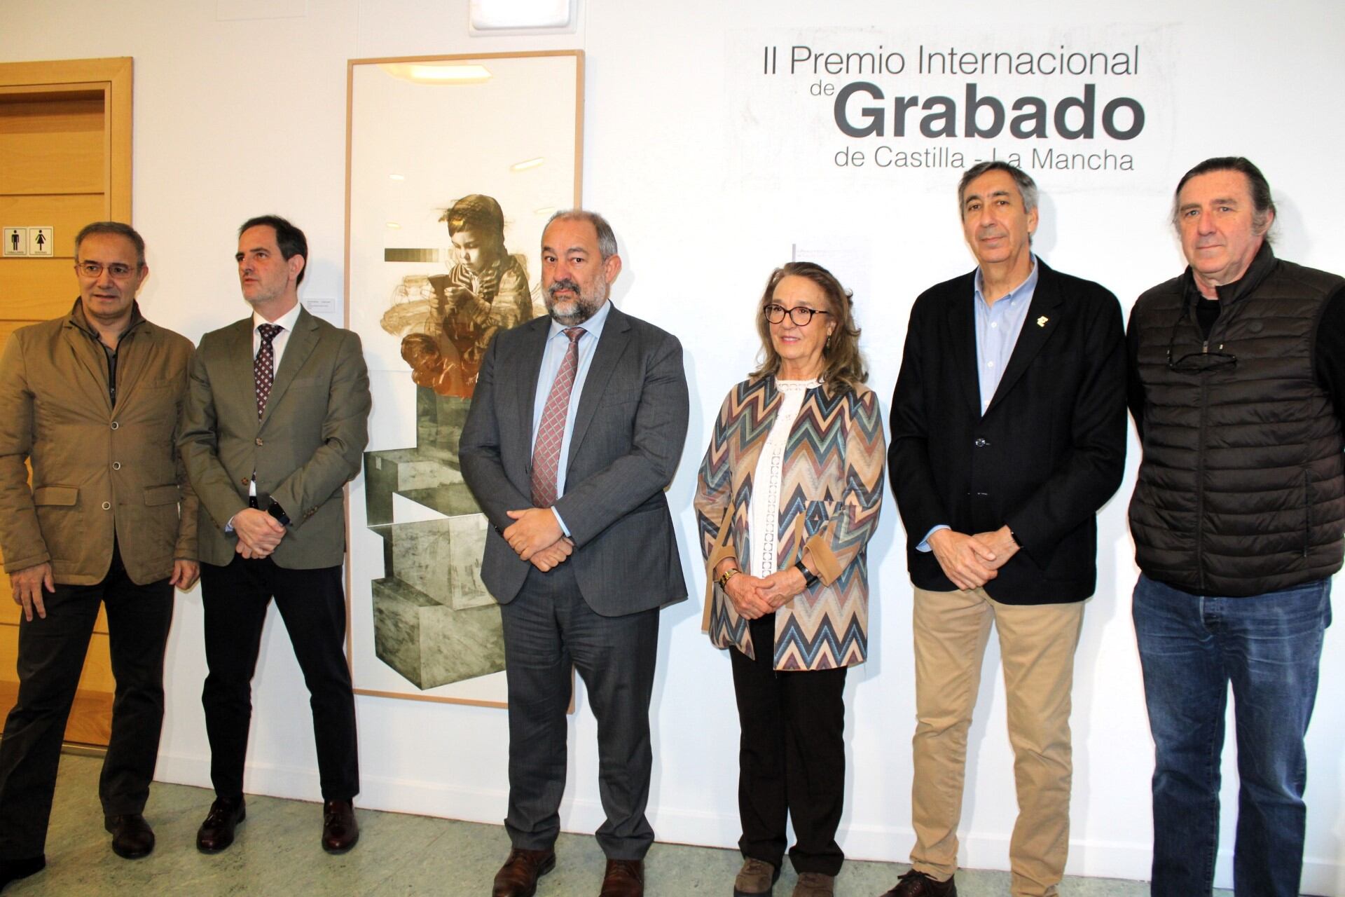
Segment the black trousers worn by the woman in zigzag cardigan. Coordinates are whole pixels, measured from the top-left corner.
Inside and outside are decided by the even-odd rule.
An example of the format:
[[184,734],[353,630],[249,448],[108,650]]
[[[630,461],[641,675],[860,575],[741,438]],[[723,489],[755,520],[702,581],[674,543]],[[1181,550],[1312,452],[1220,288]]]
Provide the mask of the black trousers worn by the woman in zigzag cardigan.
[[756,659],[729,648],[738,702],[738,850],[775,867],[784,861],[785,818],[798,873],[835,875],[845,854],[837,828],[845,808],[845,674],[777,672],[775,615],[752,620]]

